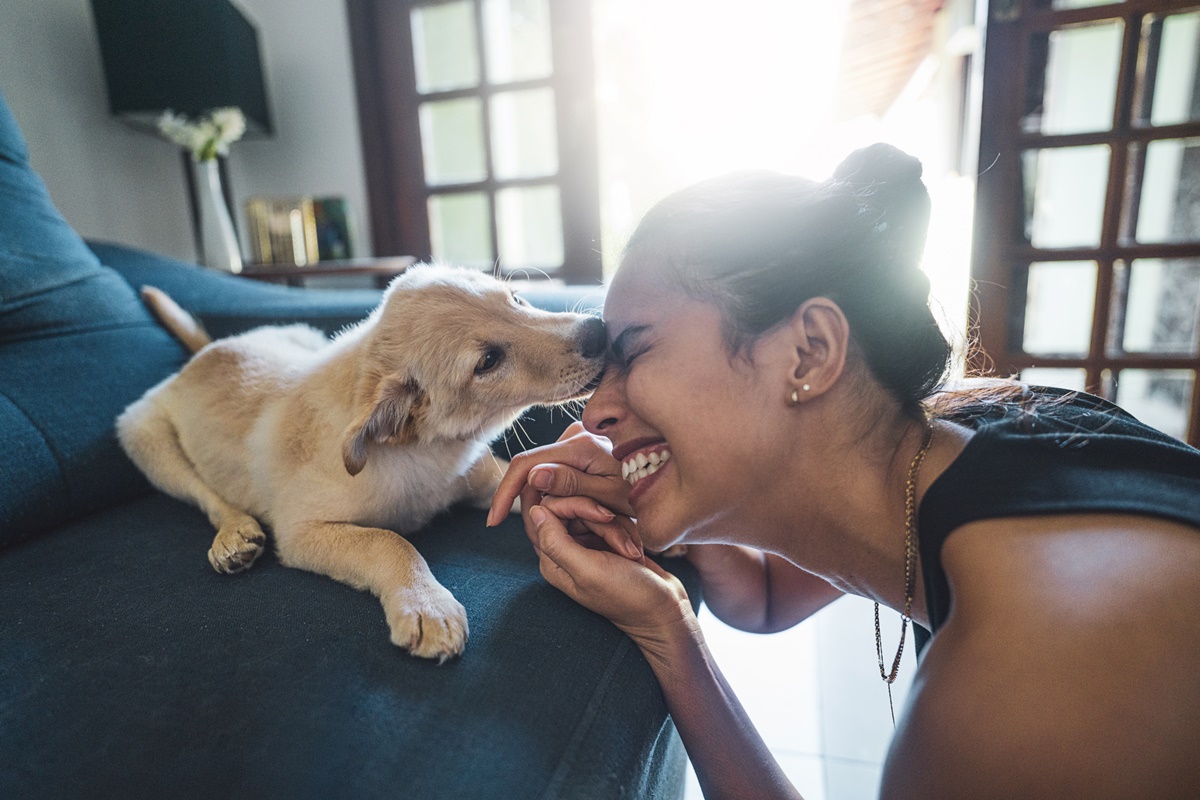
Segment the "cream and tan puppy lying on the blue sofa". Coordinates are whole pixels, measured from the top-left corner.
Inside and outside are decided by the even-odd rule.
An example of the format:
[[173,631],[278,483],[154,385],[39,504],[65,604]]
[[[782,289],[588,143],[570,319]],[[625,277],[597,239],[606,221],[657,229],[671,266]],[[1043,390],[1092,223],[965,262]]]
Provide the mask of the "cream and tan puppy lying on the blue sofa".
[[395,644],[461,654],[462,604],[400,534],[460,500],[487,507],[504,471],[488,443],[530,405],[588,395],[604,324],[427,265],[331,341],[293,325],[211,342],[167,295],[143,296],[196,355],[118,417],[118,438],[151,483],[208,515],[212,567],[247,569],[266,528],[287,566],[378,596]]

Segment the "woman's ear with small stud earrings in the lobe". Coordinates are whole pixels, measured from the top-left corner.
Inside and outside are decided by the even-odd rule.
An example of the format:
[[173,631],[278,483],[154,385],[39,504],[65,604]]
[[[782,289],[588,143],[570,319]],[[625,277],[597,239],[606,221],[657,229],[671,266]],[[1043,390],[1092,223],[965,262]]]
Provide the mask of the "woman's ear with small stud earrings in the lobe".
[[836,302],[812,297],[792,314],[788,330],[792,339],[788,402],[798,405],[829,391],[841,378],[850,350],[850,324]]

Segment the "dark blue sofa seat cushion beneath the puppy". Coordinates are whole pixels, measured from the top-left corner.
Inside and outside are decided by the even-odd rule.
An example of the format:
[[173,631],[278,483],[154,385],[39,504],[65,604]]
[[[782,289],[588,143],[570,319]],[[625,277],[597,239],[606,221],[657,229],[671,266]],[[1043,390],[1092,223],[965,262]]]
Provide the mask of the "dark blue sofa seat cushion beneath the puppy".
[[443,666],[371,595],[270,553],[217,575],[211,540],[149,494],[0,553],[0,796],[678,796],[649,666],[542,581],[517,518],[410,536],[470,621]]

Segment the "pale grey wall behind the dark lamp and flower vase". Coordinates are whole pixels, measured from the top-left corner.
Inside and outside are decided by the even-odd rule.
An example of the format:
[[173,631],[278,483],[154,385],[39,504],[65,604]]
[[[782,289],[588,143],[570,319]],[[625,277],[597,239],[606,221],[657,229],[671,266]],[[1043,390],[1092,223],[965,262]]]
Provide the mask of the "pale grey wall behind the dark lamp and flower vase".
[[[239,218],[252,194],[341,194],[355,217],[356,251],[368,253],[344,4],[238,4],[258,26],[276,128],[271,139],[233,146]],[[76,230],[194,258],[179,151],[109,116],[89,0],[0,0],[0,94]]]

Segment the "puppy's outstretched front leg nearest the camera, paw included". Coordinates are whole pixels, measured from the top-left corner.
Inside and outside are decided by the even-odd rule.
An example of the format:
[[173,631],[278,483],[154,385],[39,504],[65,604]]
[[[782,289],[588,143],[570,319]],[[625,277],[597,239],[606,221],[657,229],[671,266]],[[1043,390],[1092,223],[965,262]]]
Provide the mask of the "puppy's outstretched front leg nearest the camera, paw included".
[[280,560],[366,589],[388,615],[392,644],[443,662],[467,646],[467,609],[406,539],[383,528],[308,522],[275,531]]

